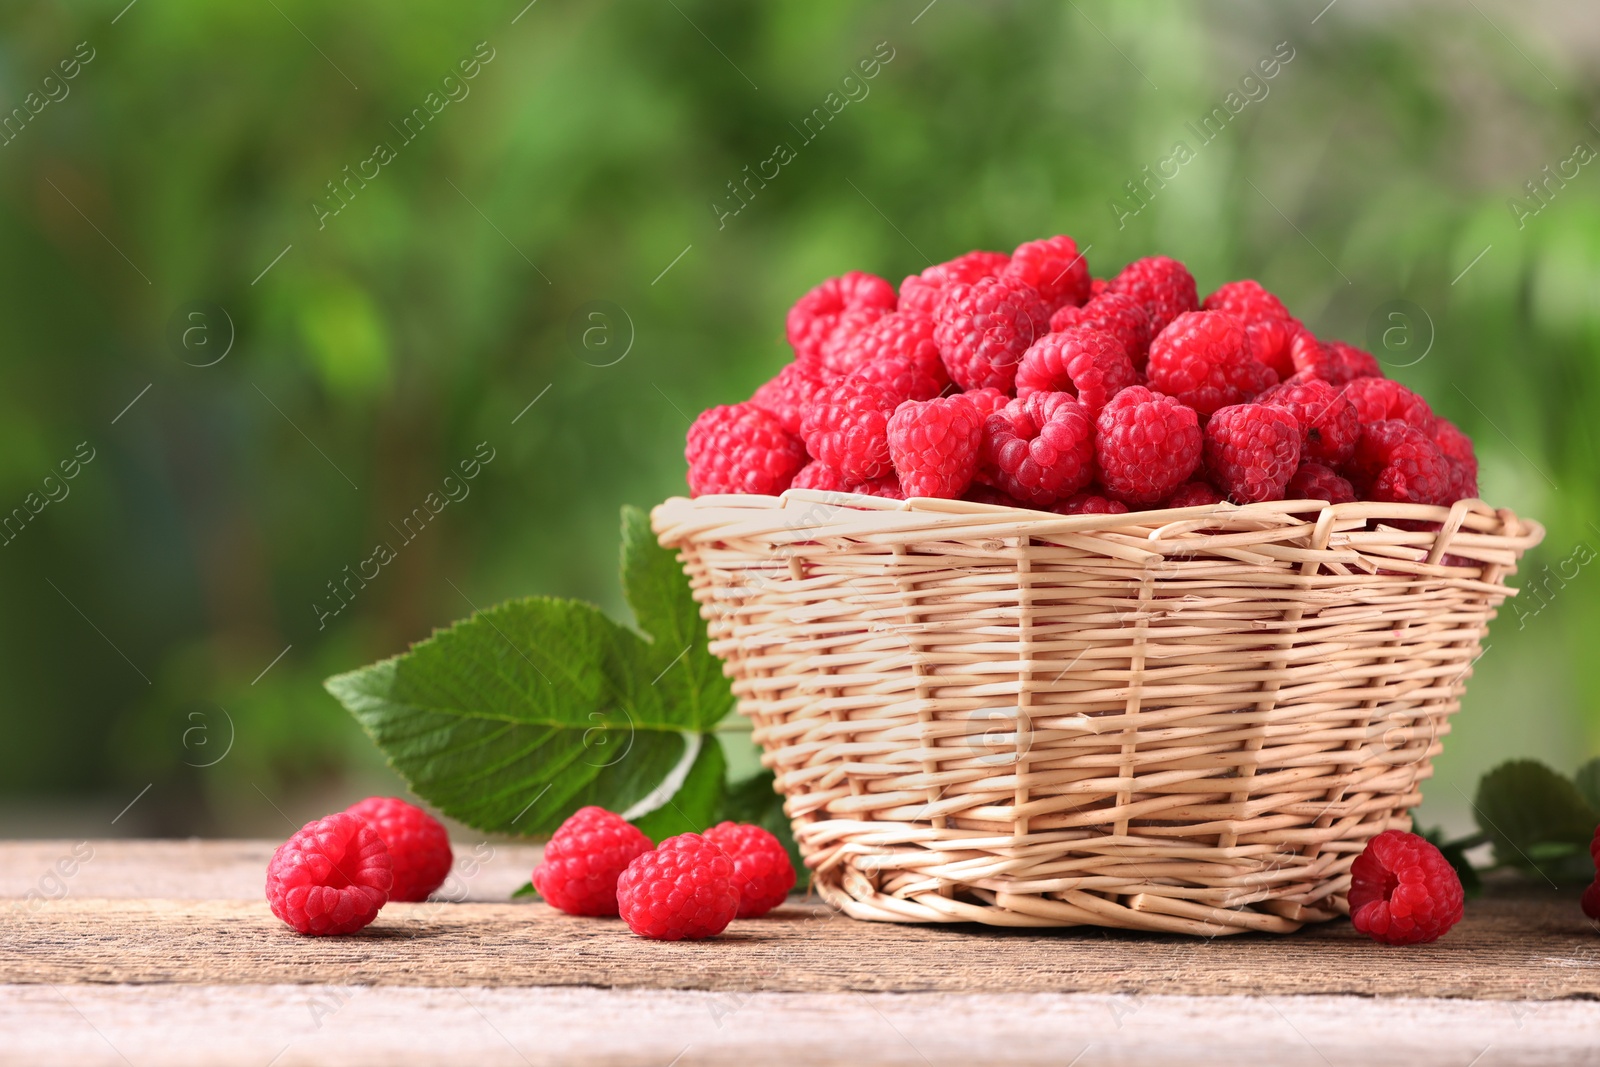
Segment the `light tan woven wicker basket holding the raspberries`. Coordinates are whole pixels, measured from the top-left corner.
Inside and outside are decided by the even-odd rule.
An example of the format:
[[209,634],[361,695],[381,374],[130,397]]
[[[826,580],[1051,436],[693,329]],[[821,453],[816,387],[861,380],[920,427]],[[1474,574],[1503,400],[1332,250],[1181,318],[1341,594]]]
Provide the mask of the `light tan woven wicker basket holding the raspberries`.
[[1347,910],[1544,536],[1482,501],[1062,517],[790,490],[653,520],[826,901],[1202,936]]

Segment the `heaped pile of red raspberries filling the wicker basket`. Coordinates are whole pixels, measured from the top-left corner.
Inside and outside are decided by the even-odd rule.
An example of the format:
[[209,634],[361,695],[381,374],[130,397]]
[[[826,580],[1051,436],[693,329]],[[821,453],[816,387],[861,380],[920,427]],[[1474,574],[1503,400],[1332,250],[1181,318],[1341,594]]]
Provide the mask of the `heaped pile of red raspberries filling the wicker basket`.
[[690,427],[690,490],[938,496],[1074,514],[1278,499],[1451,504],[1472,440],[1256,282],[1091,278],[1070,237],[829,278],[794,363]]

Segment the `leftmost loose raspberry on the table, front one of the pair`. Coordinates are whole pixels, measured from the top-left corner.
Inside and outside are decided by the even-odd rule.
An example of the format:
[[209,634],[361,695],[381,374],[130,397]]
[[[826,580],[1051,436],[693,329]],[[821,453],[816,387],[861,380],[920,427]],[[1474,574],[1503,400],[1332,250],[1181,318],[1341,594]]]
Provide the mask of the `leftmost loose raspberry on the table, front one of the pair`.
[[302,934],[354,934],[389,901],[394,861],[349,811],[312,819],[267,864],[272,913]]

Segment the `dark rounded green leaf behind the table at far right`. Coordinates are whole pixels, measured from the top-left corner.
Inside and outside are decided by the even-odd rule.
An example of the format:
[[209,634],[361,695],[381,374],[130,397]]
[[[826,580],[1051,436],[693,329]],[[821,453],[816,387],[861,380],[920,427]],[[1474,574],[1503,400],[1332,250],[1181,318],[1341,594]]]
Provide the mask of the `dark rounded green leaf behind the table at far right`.
[[1538,760],[1512,760],[1483,776],[1474,801],[1494,862],[1565,877],[1552,865],[1587,846],[1600,816],[1571,779]]

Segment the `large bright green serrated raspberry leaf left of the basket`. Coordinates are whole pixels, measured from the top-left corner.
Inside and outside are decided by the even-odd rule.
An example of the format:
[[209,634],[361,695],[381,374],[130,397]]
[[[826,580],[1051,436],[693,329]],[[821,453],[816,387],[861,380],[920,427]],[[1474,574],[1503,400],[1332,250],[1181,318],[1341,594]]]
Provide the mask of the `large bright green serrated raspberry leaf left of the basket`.
[[622,533],[626,592],[648,638],[594,605],[512,600],[328,678],[328,691],[419,797],[485,832],[550,833],[582,805],[626,811],[696,744],[690,792],[672,800],[709,814],[722,752],[704,734],[733,694],[643,512],[624,514]]

